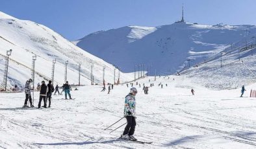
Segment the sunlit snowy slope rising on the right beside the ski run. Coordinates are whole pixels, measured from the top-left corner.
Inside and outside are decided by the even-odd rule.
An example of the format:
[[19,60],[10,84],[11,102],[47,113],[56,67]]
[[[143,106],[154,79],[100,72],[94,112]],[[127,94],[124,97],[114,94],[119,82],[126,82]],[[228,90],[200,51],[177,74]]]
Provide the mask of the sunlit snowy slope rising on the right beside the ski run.
[[205,62],[181,71],[195,84],[214,89],[235,89],[256,82],[256,39],[255,34],[246,42],[239,41],[212,56]]

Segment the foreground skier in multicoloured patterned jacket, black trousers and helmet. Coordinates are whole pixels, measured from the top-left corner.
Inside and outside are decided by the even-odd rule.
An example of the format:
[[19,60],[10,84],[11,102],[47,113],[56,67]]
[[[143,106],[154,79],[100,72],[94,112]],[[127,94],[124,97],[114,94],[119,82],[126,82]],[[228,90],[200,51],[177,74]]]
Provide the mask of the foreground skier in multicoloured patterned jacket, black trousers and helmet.
[[135,96],[137,89],[132,87],[130,89],[130,93],[125,97],[125,108],[124,108],[124,116],[127,120],[127,125],[125,126],[125,130],[121,135],[122,139],[131,139],[136,141],[137,139],[133,137],[135,126],[136,126],[136,117],[135,117]]

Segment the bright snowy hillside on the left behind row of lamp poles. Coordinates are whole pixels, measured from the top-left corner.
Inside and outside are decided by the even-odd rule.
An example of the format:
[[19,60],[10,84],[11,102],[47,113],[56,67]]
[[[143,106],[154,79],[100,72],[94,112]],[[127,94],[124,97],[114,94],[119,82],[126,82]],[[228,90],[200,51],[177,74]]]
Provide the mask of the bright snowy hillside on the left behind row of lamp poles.
[[[68,60],[70,84],[78,84],[78,63],[81,62],[81,84],[90,84],[91,63],[96,84],[103,83],[105,66],[106,83],[114,83],[114,66],[73,45],[53,30],[34,23],[20,20],[0,12],[0,76],[5,70],[6,51],[12,49],[8,69],[8,88],[23,86],[31,78],[32,56],[36,54],[35,83],[51,79],[52,63],[55,64],[55,83],[64,82],[65,62]],[[116,82],[118,71],[116,70]],[[134,75],[120,73],[120,82],[132,80]],[[0,79],[3,83],[3,79]]]

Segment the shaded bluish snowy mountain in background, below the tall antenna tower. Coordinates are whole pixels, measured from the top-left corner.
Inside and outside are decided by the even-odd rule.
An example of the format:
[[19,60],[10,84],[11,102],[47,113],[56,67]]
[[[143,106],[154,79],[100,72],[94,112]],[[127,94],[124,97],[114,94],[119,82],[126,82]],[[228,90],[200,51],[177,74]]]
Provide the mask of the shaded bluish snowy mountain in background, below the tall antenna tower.
[[127,73],[134,71],[134,65],[146,64],[146,70],[153,76],[155,69],[157,75],[172,74],[183,69],[187,60],[190,65],[207,60],[255,32],[253,25],[181,22],[160,27],[127,26],[100,31],[73,43],[122,67]]

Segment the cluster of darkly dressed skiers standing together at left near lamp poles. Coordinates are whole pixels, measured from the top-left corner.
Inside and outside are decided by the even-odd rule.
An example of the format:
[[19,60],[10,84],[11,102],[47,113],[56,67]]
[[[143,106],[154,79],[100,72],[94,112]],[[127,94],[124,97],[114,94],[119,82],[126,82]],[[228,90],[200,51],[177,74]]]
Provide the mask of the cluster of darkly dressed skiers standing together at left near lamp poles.
[[[30,107],[33,108],[34,105],[32,104],[32,98],[31,98],[31,82],[32,79],[30,78],[29,80],[26,81],[25,84],[25,103],[23,108],[29,107],[28,106],[28,101],[30,102]],[[40,91],[40,96],[39,96],[39,102],[38,102],[38,108],[41,108],[41,102],[42,100],[44,101],[44,108],[51,108],[51,96],[53,94],[53,92],[55,91],[55,94],[58,92],[58,95],[60,95],[60,92],[58,91],[58,85],[54,88],[53,84],[51,84],[51,80],[49,80],[48,84],[45,84],[45,81],[43,80],[41,82],[42,84],[38,85],[37,89],[38,91]],[[68,99],[67,96],[70,97],[71,99],[71,95],[70,95],[70,85],[68,84],[68,81],[66,82],[66,84],[63,84],[62,86],[63,91],[65,92],[65,99]],[[47,107],[47,101],[49,101],[48,107]]]

